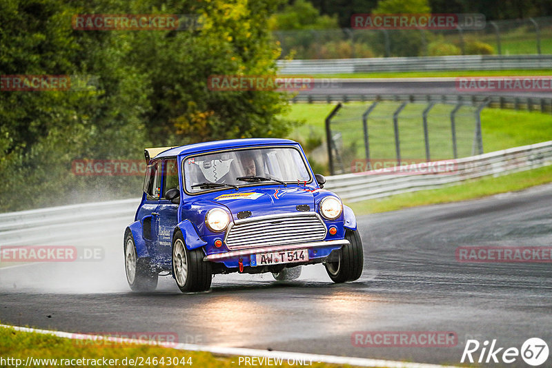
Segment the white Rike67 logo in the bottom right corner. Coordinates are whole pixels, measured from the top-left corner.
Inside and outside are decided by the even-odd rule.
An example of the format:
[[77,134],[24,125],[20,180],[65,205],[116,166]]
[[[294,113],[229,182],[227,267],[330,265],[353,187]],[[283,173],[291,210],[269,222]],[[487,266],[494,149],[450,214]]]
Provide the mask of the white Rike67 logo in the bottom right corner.
[[467,358],[467,361],[471,363],[477,361],[478,363],[503,362],[509,364],[518,361],[521,357],[528,365],[537,367],[544,364],[548,360],[548,356],[548,345],[541,338],[527,339],[521,349],[498,347],[496,340],[491,342],[491,346],[489,346],[489,340],[485,340],[483,344],[477,340],[467,340],[460,362],[465,362]]

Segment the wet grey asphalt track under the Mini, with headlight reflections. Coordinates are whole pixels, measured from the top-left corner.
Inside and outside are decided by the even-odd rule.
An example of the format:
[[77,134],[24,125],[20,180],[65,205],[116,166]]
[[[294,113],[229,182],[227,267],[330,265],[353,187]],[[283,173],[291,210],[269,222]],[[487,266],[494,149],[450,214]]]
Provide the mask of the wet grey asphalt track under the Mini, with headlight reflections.
[[[180,294],[162,280],[152,294],[126,286],[120,233],[83,239],[98,262],[0,270],[0,320],[44,329],[169,331],[181,343],[458,365],[466,338],[552,347],[550,263],[458,263],[475,245],[552,245],[552,185],[477,201],[360,216],[362,278],[334,285],[322,266],[293,283],[271,276],[215,276],[210,292]],[[59,244],[63,244],[60,234]],[[50,316],[50,317],[48,317]],[[353,347],[353,331],[455,331],[457,347]],[[550,366],[552,357],[544,366]],[[489,365],[493,367],[506,365]],[[528,367],[517,359],[508,367]]]

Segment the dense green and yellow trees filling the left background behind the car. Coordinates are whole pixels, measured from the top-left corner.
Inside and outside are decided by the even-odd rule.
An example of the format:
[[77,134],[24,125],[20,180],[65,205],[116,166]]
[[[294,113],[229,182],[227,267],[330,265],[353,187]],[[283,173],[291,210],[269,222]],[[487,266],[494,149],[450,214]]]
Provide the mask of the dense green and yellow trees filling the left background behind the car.
[[[285,94],[211,91],[216,74],[275,75],[273,0],[0,0],[0,74],[79,75],[81,90],[0,92],[0,211],[137,196],[139,176],[75,176],[79,159],[144,146],[285,136]],[[75,30],[75,14],[190,14],[186,30]],[[10,194],[7,194],[7,193]]]

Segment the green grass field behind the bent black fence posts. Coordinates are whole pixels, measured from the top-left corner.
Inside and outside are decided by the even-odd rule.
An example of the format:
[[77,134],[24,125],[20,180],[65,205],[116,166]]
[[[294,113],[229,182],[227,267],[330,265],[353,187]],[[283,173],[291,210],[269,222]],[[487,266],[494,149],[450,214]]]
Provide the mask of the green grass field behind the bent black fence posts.
[[[347,103],[342,113],[335,117],[333,131],[342,132],[343,141],[356,143],[357,157],[364,153],[362,143],[362,119],[360,116],[369,103]],[[371,137],[371,156],[374,158],[395,157],[393,136],[393,111],[399,103],[382,102],[368,120]],[[308,137],[319,136],[325,140],[324,119],[335,104],[297,103],[291,106],[292,119],[304,121],[290,138],[304,142]],[[399,116],[402,154],[410,158],[424,157],[423,131],[421,124],[424,104],[411,103]],[[452,105],[435,105],[428,119],[432,157],[451,158],[451,132],[449,130],[449,112]],[[457,141],[459,156],[471,155],[473,139],[473,108],[462,108],[457,115]],[[552,139],[552,116],[541,112],[500,110],[487,108],[482,111],[482,135],[484,152],[504,150],[549,141]]]

